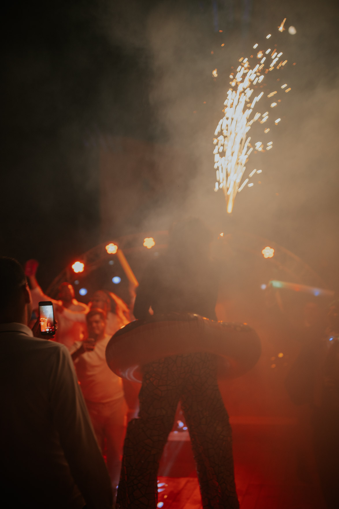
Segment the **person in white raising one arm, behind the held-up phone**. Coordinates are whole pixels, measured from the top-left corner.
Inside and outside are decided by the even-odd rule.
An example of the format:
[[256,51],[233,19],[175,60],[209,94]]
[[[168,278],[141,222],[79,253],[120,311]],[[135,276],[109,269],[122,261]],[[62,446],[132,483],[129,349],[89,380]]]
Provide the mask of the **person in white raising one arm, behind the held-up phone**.
[[55,341],[70,349],[73,343],[86,337],[86,315],[90,308],[74,298],[74,289],[68,282],[63,282],[59,287],[60,300],[51,299],[45,295],[36,279],[38,266],[36,260],[29,260],[25,264],[25,274],[31,288],[33,309],[38,309],[40,301],[50,300],[53,303],[54,317],[58,321]]

